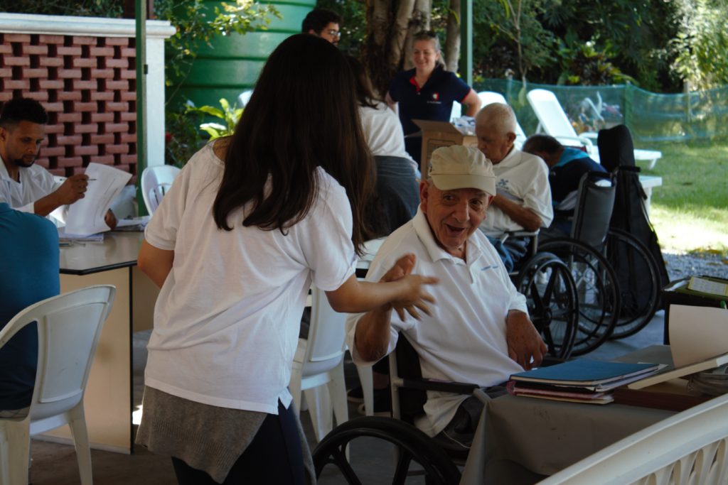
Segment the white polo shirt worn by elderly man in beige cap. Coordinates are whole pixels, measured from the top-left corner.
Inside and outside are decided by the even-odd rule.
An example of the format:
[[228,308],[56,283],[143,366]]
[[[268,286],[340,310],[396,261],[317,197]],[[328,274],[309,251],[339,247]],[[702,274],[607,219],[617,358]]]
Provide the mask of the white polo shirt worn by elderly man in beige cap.
[[[466,251],[467,262],[438,246],[427,218],[418,209],[413,220],[381,245],[367,280],[379,281],[397,259],[414,253],[413,273],[440,278],[440,284],[428,289],[435,297],[435,305],[430,307],[432,316],[423,314],[419,321],[409,315],[400,321],[397,313],[392,312],[387,353],[395,349],[397,332],[403,331],[419,355],[422,377],[488,387],[523,371],[508,357],[505,318],[509,310],[526,312],[526,298],[515,289],[498,253],[480,231],[467,240]],[[355,364],[373,364],[363,361],[354,345],[361,316],[347,318],[347,345]],[[450,422],[465,398],[428,392],[426,415],[416,425],[435,436]]]

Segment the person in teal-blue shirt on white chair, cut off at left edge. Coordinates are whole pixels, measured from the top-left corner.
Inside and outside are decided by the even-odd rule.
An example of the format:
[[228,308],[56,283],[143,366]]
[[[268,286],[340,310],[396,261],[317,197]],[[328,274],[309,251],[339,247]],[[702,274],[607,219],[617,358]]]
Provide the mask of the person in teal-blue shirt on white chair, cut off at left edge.
[[[0,329],[20,310],[60,292],[58,231],[50,220],[0,199]],[[38,329],[25,326],[0,347],[0,416],[27,414],[38,364]]]

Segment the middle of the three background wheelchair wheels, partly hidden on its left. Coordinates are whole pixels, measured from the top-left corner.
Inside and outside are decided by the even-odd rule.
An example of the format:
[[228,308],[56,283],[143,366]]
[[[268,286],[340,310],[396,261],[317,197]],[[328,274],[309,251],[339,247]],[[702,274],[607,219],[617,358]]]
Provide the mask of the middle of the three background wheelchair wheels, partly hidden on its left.
[[577,286],[579,324],[573,356],[598,348],[612,334],[620,314],[617,274],[603,254],[575,239],[550,239],[539,250],[566,263]]

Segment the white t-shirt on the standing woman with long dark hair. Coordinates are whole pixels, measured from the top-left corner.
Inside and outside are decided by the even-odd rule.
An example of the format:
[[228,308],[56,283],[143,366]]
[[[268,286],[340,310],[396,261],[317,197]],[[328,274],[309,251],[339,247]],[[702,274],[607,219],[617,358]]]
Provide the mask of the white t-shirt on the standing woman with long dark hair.
[[291,401],[290,367],[313,282],[338,289],[354,273],[352,215],[344,188],[317,169],[319,193],[285,231],[242,227],[245,208],[218,229],[212,207],[223,162],[212,145],[182,169],[146,228],[174,250],[154,308],[145,383],[181,398],[277,414]]

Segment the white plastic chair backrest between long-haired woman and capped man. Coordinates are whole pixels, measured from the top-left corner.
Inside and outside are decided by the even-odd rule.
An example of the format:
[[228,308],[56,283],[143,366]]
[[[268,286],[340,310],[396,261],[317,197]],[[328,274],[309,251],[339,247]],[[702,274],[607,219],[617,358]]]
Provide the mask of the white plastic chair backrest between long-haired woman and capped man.
[[311,287],[311,326],[301,375],[320,374],[339,365],[344,358],[347,316],[331,308],[326,293]]

